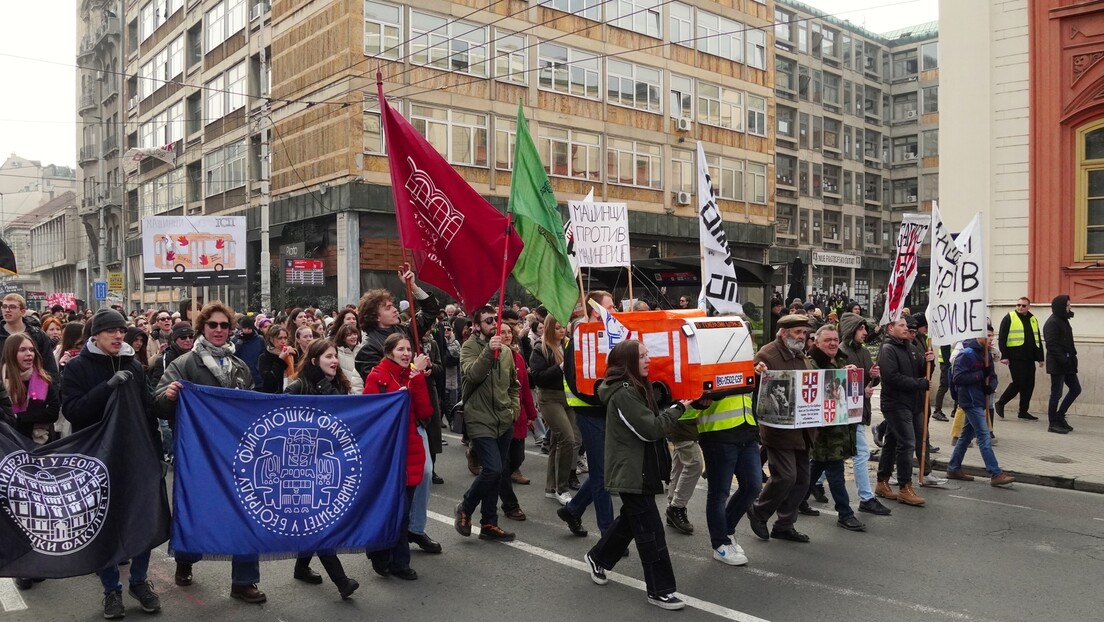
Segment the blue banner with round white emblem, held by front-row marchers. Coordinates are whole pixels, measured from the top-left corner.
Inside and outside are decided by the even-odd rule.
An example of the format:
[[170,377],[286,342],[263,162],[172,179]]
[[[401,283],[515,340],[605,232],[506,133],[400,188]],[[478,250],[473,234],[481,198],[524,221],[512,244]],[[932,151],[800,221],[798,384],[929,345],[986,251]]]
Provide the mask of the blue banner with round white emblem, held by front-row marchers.
[[294,557],[400,536],[410,396],[284,396],[184,383],[172,549]]

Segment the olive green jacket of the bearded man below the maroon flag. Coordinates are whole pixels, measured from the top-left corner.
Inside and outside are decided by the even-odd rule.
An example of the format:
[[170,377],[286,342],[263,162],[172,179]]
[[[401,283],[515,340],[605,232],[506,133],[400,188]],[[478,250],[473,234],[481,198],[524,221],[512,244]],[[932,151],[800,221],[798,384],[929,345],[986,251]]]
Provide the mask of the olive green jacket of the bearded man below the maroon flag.
[[521,408],[517,366],[496,362],[490,342],[473,335],[460,348],[460,375],[468,436],[498,439],[512,431]]

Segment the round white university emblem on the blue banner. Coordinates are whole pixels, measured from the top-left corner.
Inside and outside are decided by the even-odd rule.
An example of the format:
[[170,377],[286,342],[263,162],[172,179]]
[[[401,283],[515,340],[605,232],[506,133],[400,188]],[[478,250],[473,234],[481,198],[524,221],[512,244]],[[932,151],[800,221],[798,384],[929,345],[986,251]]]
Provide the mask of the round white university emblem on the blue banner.
[[309,407],[285,407],[245,430],[234,453],[242,507],[280,536],[309,536],[336,524],[360,491],[362,461],[343,421]]

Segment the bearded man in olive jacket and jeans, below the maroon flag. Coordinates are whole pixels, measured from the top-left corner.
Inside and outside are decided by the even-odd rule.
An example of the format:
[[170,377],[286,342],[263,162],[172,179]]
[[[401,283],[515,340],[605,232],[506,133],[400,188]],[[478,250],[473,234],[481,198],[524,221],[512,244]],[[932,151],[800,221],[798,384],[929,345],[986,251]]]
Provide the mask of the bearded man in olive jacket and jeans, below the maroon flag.
[[470,536],[471,513],[481,506],[479,538],[510,541],[514,535],[499,528],[497,506],[500,479],[510,476],[510,441],[521,384],[513,354],[497,335],[496,316],[495,307],[480,307],[473,316],[476,333],[460,348],[464,424],[482,471],[456,505],[454,526],[461,536]]

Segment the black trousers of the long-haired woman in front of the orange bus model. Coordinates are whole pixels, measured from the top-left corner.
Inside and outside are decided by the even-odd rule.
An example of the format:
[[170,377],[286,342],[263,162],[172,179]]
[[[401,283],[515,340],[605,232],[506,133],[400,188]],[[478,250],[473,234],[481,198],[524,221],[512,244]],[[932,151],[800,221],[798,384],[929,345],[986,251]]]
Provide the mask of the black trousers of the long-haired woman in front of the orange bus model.
[[628,549],[629,542],[636,540],[648,595],[672,593],[675,569],[671,568],[671,556],[667,551],[667,538],[656,507],[656,496],[620,493],[620,514],[591,549],[591,559],[602,568],[613,570]]

